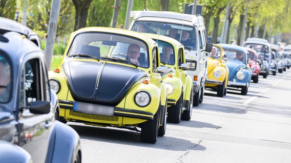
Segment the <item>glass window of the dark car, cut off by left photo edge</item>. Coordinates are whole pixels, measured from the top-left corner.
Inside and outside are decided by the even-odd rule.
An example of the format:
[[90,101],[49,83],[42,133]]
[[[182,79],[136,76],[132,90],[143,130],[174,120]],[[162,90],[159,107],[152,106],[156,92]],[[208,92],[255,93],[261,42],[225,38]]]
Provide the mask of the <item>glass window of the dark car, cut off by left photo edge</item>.
[[0,103],[6,103],[12,96],[12,66],[0,51]]

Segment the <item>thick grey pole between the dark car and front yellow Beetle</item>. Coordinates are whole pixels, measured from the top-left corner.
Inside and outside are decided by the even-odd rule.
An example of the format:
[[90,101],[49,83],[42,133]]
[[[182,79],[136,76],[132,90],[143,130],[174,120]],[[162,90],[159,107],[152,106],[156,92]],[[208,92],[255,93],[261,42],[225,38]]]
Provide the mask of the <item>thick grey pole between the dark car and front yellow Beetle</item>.
[[47,43],[45,47],[45,52],[47,55],[47,69],[48,71],[51,69],[54,43],[55,43],[55,35],[57,29],[57,19],[59,15],[59,7],[60,0],[52,0],[51,13],[49,19],[49,27],[48,27],[48,35],[47,35]]

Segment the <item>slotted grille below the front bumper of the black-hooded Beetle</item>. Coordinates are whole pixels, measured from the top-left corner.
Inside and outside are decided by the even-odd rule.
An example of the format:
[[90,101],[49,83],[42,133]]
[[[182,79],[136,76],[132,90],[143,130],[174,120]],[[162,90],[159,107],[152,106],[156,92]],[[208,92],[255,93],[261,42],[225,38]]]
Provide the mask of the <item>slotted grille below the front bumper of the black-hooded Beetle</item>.
[[74,112],[72,110],[70,110],[70,116],[81,117],[81,118],[92,119],[92,120],[99,120],[99,121],[114,121],[114,122],[118,122],[118,116],[113,116],[113,117],[100,116],[100,115],[95,115],[95,114]]

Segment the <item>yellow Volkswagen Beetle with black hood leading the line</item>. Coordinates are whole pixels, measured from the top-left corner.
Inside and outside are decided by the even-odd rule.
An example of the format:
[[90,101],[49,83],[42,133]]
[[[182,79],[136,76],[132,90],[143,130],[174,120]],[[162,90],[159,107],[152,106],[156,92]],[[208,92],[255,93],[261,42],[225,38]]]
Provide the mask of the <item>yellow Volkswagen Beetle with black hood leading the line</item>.
[[49,72],[60,121],[141,132],[155,143],[165,134],[167,89],[158,44],[128,30],[90,27],[71,34],[60,65]]

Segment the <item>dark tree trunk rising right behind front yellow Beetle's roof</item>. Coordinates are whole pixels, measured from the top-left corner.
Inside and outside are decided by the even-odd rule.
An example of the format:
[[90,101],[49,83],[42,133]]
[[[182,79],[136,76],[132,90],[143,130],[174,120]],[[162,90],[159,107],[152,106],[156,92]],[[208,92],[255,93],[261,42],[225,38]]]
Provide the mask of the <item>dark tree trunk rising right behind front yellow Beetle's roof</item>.
[[76,9],[74,31],[86,27],[88,10],[92,0],[72,0]]

